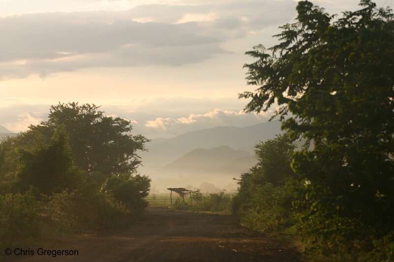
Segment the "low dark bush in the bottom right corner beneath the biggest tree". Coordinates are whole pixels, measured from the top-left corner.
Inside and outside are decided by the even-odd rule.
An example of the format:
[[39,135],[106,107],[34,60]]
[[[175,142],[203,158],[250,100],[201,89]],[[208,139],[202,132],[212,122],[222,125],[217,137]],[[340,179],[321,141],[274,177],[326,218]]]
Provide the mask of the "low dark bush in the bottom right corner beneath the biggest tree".
[[310,216],[297,226],[307,260],[321,262],[394,261],[394,232],[376,236],[361,219]]

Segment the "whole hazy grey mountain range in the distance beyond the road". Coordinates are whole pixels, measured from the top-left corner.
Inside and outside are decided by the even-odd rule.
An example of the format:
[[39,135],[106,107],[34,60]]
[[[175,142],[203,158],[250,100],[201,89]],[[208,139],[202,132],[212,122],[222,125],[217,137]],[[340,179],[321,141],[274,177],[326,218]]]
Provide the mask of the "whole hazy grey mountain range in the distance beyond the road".
[[239,177],[257,164],[254,146],[281,134],[279,121],[244,128],[219,126],[175,138],[155,139],[139,155],[141,174],[152,178],[152,191],[208,182],[218,188],[236,188]]

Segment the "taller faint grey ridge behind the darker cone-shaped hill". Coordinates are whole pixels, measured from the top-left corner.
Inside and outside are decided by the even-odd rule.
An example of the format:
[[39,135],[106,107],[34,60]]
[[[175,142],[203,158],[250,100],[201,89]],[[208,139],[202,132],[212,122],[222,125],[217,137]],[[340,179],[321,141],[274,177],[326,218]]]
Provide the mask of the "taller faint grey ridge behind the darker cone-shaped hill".
[[254,146],[257,143],[282,133],[280,125],[279,121],[270,121],[244,128],[218,126],[188,132],[174,138],[152,140],[146,145],[149,151],[139,154],[144,165],[140,172],[149,175],[196,148],[225,145],[254,155]]

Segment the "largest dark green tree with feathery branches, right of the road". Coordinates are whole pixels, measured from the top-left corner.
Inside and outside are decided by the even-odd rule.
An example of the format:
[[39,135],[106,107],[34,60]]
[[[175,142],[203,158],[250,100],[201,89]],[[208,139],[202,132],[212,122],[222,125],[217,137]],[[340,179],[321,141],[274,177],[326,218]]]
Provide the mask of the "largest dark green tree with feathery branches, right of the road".
[[275,116],[291,139],[313,148],[295,153],[309,212],[354,218],[375,228],[394,221],[394,21],[391,9],[361,0],[361,10],[334,20],[311,2],[297,5],[296,23],[280,43],[247,52],[248,84],[260,86],[247,111]]

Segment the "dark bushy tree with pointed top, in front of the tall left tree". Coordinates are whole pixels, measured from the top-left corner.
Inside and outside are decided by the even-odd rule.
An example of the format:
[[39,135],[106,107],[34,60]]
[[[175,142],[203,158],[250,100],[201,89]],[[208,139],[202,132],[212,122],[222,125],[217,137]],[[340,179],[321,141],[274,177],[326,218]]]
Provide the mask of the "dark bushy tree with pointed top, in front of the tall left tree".
[[32,150],[19,148],[20,166],[17,189],[27,191],[31,186],[40,193],[51,195],[65,189],[76,189],[83,181],[83,171],[74,165],[68,135],[63,126],[55,129],[50,145]]

